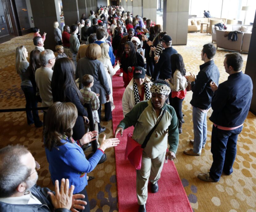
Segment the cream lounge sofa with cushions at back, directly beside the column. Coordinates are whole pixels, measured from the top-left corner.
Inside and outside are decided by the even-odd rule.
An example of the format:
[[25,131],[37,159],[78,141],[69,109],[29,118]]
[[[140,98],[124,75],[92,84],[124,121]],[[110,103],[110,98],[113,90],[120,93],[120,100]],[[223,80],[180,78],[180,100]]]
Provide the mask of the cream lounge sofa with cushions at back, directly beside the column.
[[[200,27],[201,27],[201,23],[211,23],[210,20],[218,20],[217,23],[219,22],[223,22],[226,23],[226,19],[225,18],[188,18],[188,32],[198,32],[200,31]],[[214,25],[214,24],[213,24]],[[210,26],[208,26],[209,28]],[[211,28],[211,27],[210,27]],[[209,32],[210,33],[210,28],[209,28]],[[206,25],[203,26],[203,30],[207,30]]]

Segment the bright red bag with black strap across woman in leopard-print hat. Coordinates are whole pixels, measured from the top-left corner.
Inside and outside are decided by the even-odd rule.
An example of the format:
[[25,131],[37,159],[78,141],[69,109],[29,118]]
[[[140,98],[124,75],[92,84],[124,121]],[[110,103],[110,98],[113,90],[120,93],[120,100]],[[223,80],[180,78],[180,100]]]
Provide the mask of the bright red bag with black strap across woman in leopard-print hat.
[[[166,107],[163,110],[163,114],[165,113]],[[163,117],[163,114],[161,118]],[[149,141],[149,138],[151,137],[152,133],[154,132],[155,128],[157,127],[158,123],[160,122],[161,118],[158,120],[156,125],[153,127],[153,129],[147,134],[144,142],[139,144],[137,141],[135,141],[132,138],[132,134],[129,133],[127,135],[127,143],[126,143],[126,150],[125,150],[125,159],[128,158],[130,163],[135,167],[136,170],[141,169],[141,161],[142,161],[142,151],[143,148],[147,146],[147,142]]]

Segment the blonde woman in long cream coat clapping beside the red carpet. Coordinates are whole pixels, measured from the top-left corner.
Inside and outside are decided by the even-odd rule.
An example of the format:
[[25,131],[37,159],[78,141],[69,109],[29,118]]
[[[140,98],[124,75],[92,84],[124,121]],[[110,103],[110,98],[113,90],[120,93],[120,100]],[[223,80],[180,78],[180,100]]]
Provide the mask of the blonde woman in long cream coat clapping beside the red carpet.
[[107,75],[107,80],[109,83],[109,88],[110,88],[110,95],[109,95],[109,101],[111,104],[111,110],[114,110],[115,106],[114,106],[114,102],[113,102],[113,95],[112,95],[112,76],[116,74],[117,70],[120,69],[120,66],[117,62],[117,65],[113,68],[111,61],[110,61],[110,57],[109,57],[109,45],[107,43],[101,43],[101,58],[99,58],[99,61],[102,62],[106,75]]

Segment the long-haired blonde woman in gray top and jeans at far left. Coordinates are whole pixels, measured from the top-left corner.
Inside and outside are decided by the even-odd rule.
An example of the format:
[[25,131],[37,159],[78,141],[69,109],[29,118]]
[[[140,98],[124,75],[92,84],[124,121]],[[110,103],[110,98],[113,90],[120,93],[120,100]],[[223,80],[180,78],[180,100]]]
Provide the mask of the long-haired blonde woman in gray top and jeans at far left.
[[[21,79],[21,89],[24,92],[26,98],[26,109],[37,107],[37,101],[35,97],[35,90],[30,80],[30,73],[28,70],[29,63],[27,62],[28,52],[25,46],[19,46],[16,48],[16,63],[15,68],[17,74]],[[38,116],[38,110],[26,111],[27,124],[31,125],[35,123],[36,127],[43,126]]]

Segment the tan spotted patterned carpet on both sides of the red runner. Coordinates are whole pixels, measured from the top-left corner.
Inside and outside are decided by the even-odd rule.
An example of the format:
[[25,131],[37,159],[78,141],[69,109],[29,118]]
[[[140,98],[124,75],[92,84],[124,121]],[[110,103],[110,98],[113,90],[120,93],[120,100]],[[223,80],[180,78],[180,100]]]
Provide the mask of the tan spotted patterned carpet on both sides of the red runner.
[[[11,41],[0,44],[0,109],[22,108],[25,106],[24,94],[20,88],[20,79],[14,69],[15,48],[25,45],[28,52],[34,49],[32,42],[33,34],[13,38]],[[50,39],[50,38],[47,38]],[[46,39],[46,42],[47,42]],[[185,68],[188,72],[196,74],[199,71],[200,54],[203,44],[211,42],[211,36],[200,33],[188,33],[187,46],[175,46],[174,48],[183,56]],[[218,49],[214,58],[219,67],[220,82],[227,79],[223,66],[224,55],[229,51]],[[244,66],[246,66],[247,54],[243,54]],[[122,83],[122,78],[120,78]],[[256,118],[249,113],[244,129],[237,142],[237,158],[234,163],[234,172],[230,176],[222,175],[217,183],[202,182],[197,179],[197,174],[208,172],[212,163],[211,130],[212,123],[208,120],[208,138],[201,156],[188,156],[183,150],[192,147],[188,141],[193,138],[192,130],[192,107],[189,104],[192,93],[188,92],[184,103],[185,114],[184,132],[180,135],[180,144],[177,151],[175,165],[182,180],[188,199],[195,212],[255,212],[256,211]],[[212,110],[208,113],[211,114]],[[43,119],[42,113],[41,120]],[[102,122],[107,128],[104,132],[107,138],[113,136],[112,121]],[[53,189],[48,171],[43,142],[42,128],[37,129],[34,125],[28,126],[25,112],[0,113],[0,148],[8,144],[23,144],[29,148],[35,159],[40,163],[38,171],[40,186]],[[100,135],[100,138],[103,134]],[[86,154],[89,154],[89,152]],[[90,199],[92,212],[116,212],[118,211],[115,158],[114,149],[106,151],[107,160],[96,167],[90,176],[96,177],[89,181],[86,187]],[[161,188],[160,188],[161,189]],[[171,188],[170,188],[171,189]],[[161,191],[160,191],[161,192]]]

